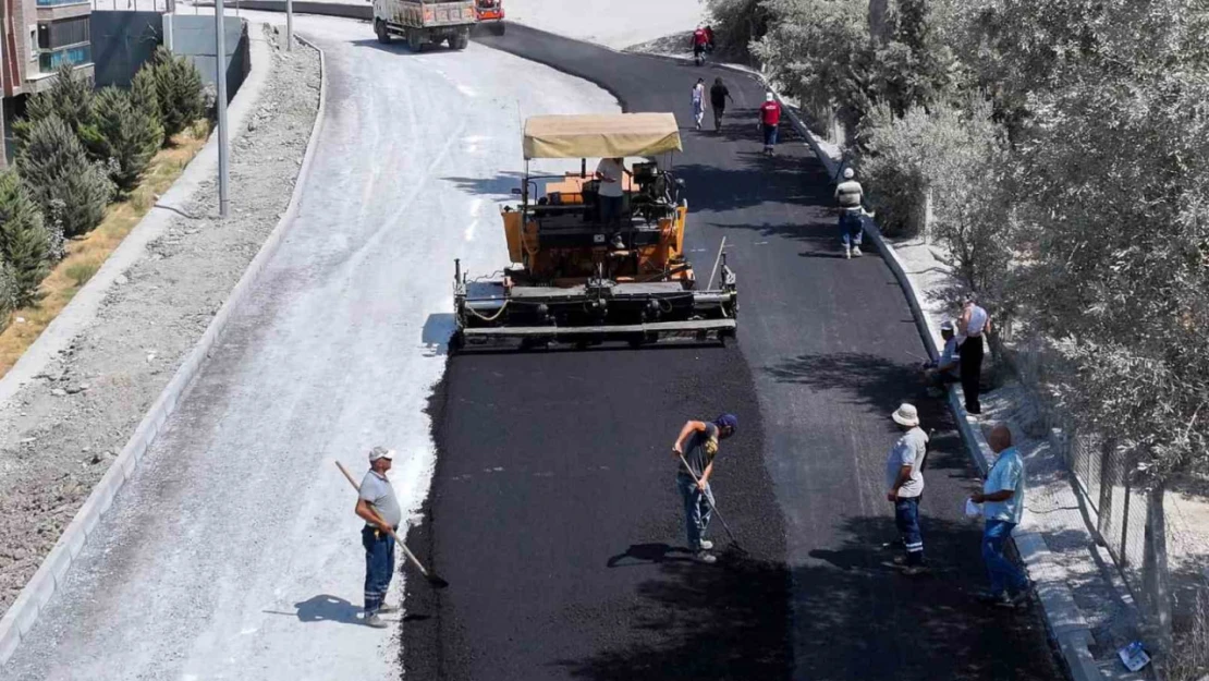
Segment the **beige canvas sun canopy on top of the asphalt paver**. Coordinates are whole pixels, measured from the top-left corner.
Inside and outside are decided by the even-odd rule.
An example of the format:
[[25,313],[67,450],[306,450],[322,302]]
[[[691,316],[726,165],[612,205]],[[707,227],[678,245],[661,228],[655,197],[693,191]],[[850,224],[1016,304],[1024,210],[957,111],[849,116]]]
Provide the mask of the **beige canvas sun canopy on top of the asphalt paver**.
[[525,121],[525,158],[607,158],[679,151],[671,114],[533,116]]

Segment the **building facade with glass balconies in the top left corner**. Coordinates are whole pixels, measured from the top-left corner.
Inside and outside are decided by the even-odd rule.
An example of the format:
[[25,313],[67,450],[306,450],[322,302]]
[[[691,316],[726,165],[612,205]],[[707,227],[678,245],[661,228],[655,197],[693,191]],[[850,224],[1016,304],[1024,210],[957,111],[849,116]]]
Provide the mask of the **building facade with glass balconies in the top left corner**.
[[92,77],[91,0],[0,0],[0,82],[4,91],[5,154],[12,158],[12,121],[25,97],[54,82],[59,64],[70,62]]

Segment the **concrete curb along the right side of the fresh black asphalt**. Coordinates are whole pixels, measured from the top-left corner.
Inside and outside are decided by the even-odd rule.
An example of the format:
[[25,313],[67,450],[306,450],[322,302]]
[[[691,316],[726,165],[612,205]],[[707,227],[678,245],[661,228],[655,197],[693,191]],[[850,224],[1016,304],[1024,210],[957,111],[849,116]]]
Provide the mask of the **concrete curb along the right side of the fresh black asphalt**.
[[[760,80],[768,85],[768,81],[763,76],[760,76]],[[771,86],[769,87],[771,88]],[[777,94],[777,98],[780,98],[780,94]],[[798,132],[805,137],[815,156],[823,163],[827,172],[833,178],[837,177],[840,168],[839,162],[822,150],[814,132],[802,122],[797,114],[788,106],[785,108],[785,111],[788,114],[794,127],[798,128]],[[915,318],[915,325],[924,339],[924,346],[927,348],[929,356],[933,359],[938,358],[939,352],[936,347],[936,336],[939,335],[939,329],[931,328],[931,322],[927,314],[924,313],[922,299],[907,277],[907,271],[903,269],[898,254],[886,242],[885,237],[883,237],[877,223],[869,218],[863,218],[862,223],[866,237],[878,248],[886,265],[890,266],[890,271],[893,272],[895,278],[898,281],[898,285],[907,295],[907,302],[910,306],[912,316]],[[978,466],[982,474],[985,475],[990,469],[990,463],[994,461],[995,455],[990,445],[987,444],[982,429],[976,428],[970,422],[962,399],[960,386],[951,386],[948,391],[949,409],[953,410],[956,417],[961,442],[965,444],[970,458]],[[1075,596],[1071,594],[1070,588],[1060,579],[1047,578],[1052,561],[1049,548],[1046,546],[1045,537],[1040,532],[1029,530],[1028,525],[1028,520],[1025,519],[1012,533],[1012,541],[1016,543],[1017,553],[1020,554],[1020,559],[1024,561],[1029,576],[1036,585],[1037,599],[1041,601],[1049,635],[1058,644],[1058,648],[1066,662],[1068,670],[1074,681],[1101,681],[1104,675],[1097,666],[1095,658],[1092,657],[1088,647],[1094,642],[1092,630],[1075,604]]]

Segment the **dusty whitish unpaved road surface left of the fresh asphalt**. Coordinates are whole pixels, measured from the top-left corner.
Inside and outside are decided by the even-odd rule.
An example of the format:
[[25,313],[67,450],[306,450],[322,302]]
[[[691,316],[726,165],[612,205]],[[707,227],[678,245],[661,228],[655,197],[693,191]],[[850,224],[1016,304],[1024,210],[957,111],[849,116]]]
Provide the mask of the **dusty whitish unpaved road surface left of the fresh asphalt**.
[[397,448],[395,486],[418,506],[453,258],[505,262],[520,121],[617,104],[474,44],[411,54],[368,24],[295,25],[329,77],[297,221],[6,681],[397,674],[397,634],[357,623],[360,521],[332,461],[363,472],[370,446]]

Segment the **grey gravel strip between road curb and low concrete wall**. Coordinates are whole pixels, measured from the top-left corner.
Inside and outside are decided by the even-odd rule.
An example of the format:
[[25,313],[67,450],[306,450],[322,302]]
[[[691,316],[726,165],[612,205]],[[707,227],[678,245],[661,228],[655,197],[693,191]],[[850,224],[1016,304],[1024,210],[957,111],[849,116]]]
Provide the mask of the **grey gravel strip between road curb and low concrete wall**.
[[319,56],[311,48],[272,54],[272,76],[251,119],[256,129],[232,134],[230,219],[216,219],[216,186],[203,186],[186,209],[197,219],[178,218],[151,243],[88,330],[0,415],[0,613],[285,210],[318,106]]

